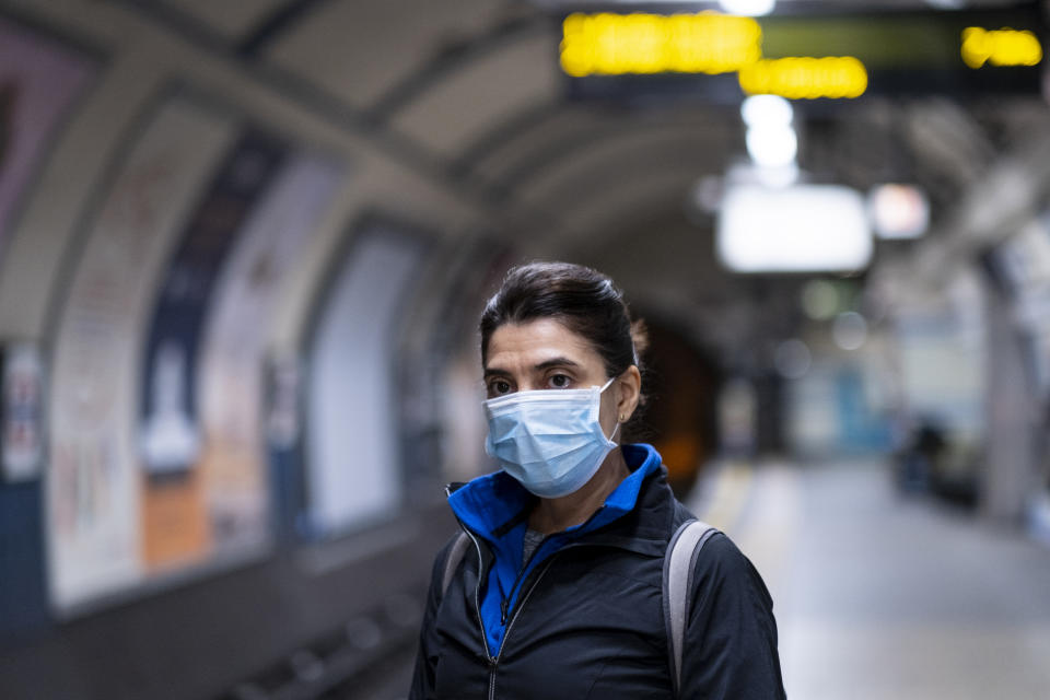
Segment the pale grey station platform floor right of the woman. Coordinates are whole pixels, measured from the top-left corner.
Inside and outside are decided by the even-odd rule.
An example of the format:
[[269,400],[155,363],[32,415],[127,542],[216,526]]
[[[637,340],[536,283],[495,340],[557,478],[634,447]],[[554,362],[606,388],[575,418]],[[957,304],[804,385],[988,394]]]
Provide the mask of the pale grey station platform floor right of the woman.
[[[1050,548],[898,493],[878,460],[725,464],[688,504],[774,600],[789,698],[1050,698]],[[358,698],[405,698],[411,658]]]

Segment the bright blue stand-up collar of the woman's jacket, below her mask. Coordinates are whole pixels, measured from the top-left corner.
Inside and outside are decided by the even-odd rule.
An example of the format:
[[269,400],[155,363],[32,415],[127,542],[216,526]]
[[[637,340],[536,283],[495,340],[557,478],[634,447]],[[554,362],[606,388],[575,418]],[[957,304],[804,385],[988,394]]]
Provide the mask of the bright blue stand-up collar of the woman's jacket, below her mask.
[[[631,474],[609,493],[594,517],[570,527],[567,534],[591,532],[630,513],[645,478],[661,467],[660,454],[652,445],[628,444],[620,450]],[[477,477],[448,495],[448,504],[464,526],[491,542],[527,517],[535,501],[535,495],[502,470]]]

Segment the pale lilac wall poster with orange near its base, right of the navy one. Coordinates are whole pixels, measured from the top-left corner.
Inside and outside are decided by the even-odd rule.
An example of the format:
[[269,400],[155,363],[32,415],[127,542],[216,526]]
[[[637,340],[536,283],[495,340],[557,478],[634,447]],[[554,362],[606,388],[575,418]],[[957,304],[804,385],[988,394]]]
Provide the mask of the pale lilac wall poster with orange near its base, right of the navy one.
[[268,533],[265,353],[281,282],[340,182],[334,163],[291,156],[252,211],[217,281],[197,374],[205,482],[213,549],[236,556]]

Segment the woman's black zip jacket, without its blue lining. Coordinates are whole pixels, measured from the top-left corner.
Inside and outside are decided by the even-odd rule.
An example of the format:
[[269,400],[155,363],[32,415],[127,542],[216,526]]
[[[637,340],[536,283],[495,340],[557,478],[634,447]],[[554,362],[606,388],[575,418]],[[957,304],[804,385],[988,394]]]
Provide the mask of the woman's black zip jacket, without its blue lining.
[[[533,572],[497,658],[478,616],[479,565],[487,571],[492,553],[476,538],[443,596],[450,542],[434,561],[410,699],[669,699],[664,552],[691,515],[666,474],[645,479],[630,513]],[[679,697],[784,698],[772,599],[725,535],[701,550],[691,588]]]

